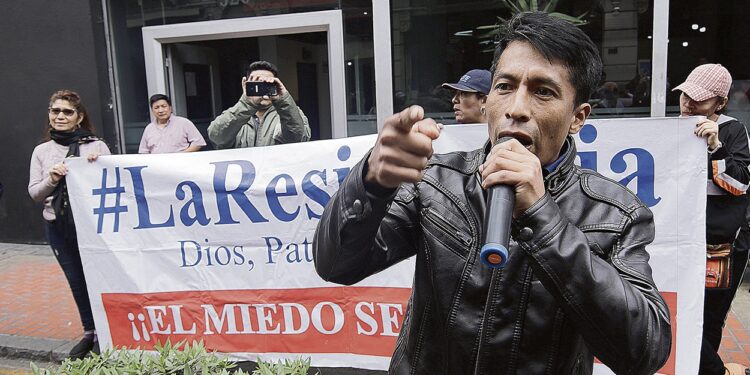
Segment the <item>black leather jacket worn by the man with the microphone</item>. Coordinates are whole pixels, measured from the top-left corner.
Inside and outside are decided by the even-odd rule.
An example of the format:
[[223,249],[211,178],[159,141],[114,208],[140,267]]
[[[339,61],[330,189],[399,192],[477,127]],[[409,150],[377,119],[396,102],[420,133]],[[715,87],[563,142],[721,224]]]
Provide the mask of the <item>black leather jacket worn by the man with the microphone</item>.
[[365,191],[365,158],[326,206],[314,241],[325,280],[353,284],[413,255],[414,286],[392,374],[653,374],[669,356],[654,286],[651,211],[621,185],[563,161],[513,222],[506,267],[479,261],[483,149],[435,155],[395,197]]

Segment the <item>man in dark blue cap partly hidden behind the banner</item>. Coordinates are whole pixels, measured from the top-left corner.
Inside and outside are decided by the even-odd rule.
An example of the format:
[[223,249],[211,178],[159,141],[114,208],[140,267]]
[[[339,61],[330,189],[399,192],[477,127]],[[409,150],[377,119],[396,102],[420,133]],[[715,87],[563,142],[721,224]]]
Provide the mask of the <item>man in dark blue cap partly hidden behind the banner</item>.
[[472,69],[456,83],[443,83],[453,89],[453,113],[461,124],[487,123],[484,103],[490,93],[492,74],[489,70]]

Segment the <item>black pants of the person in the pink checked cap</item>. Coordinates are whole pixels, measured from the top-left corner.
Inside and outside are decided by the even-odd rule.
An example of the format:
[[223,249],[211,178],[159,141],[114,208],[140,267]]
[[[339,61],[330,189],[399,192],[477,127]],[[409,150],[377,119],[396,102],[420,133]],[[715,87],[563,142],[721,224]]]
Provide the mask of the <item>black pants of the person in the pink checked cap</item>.
[[706,289],[703,303],[703,343],[699,375],[724,375],[724,362],[719,357],[721,333],[732,306],[734,294],[742,281],[748,259],[750,230],[747,226],[740,232],[732,252],[732,273],[728,289]]

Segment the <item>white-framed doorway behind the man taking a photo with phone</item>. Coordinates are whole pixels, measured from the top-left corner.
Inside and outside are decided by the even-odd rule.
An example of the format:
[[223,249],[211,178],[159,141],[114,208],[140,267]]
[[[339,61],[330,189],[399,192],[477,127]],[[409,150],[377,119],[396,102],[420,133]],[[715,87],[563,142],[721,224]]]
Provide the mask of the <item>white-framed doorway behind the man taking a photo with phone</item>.
[[144,27],[149,95],[204,132],[240,95],[249,63],[267,60],[307,115],[313,139],[347,136],[341,11]]

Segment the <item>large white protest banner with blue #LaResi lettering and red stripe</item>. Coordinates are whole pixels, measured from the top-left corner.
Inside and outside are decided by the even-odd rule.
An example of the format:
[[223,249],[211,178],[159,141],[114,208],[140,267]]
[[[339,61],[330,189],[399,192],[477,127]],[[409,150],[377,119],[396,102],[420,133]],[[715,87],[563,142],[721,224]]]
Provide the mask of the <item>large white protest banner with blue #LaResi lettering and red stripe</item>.
[[[654,212],[648,251],[674,335],[664,374],[694,373],[700,351],[706,152],[695,123],[598,120],[575,136],[579,164]],[[413,258],[344,287],[317,276],[311,245],[325,204],[375,139],[67,161],[101,345],[202,339],[237,360],[387,369]],[[485,125],[446,126],[435,149],[486,139]]]

